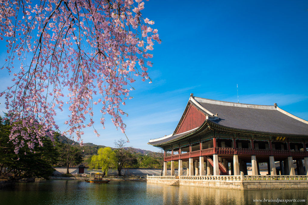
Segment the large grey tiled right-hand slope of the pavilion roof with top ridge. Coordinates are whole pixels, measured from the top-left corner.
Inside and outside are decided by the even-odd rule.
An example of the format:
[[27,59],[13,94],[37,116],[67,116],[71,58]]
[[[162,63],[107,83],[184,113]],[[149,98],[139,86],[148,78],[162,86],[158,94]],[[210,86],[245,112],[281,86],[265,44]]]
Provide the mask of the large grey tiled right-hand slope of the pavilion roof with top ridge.
[[308,124],[277,106],[229,103],[195,97],[202,107],[218,114],[213,122],[230,128],[267,133],[308,135]]

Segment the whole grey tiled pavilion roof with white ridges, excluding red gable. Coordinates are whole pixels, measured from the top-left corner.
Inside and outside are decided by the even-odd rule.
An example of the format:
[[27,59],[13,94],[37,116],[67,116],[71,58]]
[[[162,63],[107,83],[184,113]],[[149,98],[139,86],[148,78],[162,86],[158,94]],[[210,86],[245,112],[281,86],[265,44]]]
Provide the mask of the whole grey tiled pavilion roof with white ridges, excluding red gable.
[[[277,105],[268,106],[232,103],[194,97],[193,95],[189,98],[179,125],[186,114],[189,104],[198,107],[208,116],[207,119],[209,121],[219,126],[263,133],[308,136],[308,122],[282,110]],[[176,127],[176,130],[179,125]],[[148,144],[159,145],[161,143],[176,140],[196,130],[197,128],[176,135],[176,131],[174,131],[174,133],[169,136],[150,140]]]

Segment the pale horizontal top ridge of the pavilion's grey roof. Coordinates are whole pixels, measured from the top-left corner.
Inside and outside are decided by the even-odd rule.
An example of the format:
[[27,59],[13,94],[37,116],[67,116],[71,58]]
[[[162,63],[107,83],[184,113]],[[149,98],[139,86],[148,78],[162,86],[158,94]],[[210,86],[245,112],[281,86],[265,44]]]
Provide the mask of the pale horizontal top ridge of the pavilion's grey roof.
[[216,104],[216,105],[255,108],[255,109],[264,109],[264,110],[276,110],[275,105],[255,105],[255,104],[246,104],[246,103],[234,103],[234,102],[228,102],[228,101],[200,98],[196,96],[193,96],[193,98],[199,103],[209,103],[209,104]]

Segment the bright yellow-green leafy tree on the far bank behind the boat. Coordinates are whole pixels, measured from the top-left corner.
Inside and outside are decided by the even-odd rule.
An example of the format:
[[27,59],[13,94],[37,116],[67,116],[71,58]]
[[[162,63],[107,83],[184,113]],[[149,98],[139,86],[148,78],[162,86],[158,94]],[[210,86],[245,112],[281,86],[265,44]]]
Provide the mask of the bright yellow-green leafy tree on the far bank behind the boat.
[[116,158],[115,153],[110,147],[99,148],[97,155],[91,158],[90,168],[102,168],[103,177],[107,174],[108,169],[115,167]]

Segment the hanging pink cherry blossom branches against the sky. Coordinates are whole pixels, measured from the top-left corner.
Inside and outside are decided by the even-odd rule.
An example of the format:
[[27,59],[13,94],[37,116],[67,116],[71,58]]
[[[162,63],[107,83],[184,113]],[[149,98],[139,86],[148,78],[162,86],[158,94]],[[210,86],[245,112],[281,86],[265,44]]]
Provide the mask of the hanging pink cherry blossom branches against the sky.
[[46,136],[53,139],[55,116],[65,103],[65,133],[81,145],[82,129],[93,127],[93,105],[100,108],[103,128],[109,114],[125,132],[120,105],[132,98],[137,78],[152,82],[150,52],[154,42],[161,43],[143,9],[142,0],[0,0],[0,39],[7,42],[2,69],[14,73],[14,83],[0,96],[13,124],[15,153],[43,146]]

